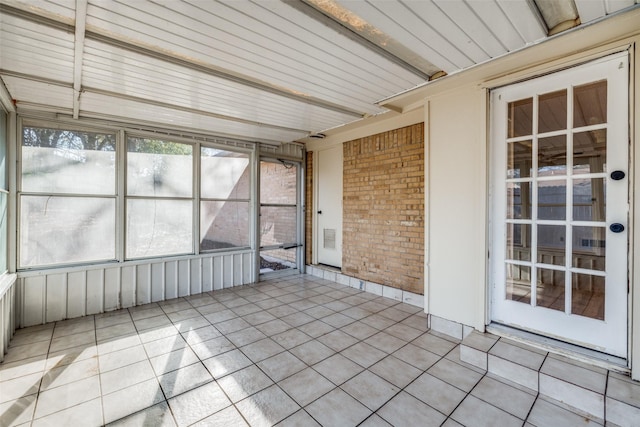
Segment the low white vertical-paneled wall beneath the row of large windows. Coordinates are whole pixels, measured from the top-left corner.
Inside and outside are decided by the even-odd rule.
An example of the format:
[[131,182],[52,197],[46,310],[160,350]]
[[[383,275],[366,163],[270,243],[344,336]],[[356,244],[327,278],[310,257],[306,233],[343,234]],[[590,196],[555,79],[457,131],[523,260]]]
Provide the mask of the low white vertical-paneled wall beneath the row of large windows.
[[250,250],[22,272],[18,273],[15,286],[18,326],[103,313],[254,281],[255,254]]

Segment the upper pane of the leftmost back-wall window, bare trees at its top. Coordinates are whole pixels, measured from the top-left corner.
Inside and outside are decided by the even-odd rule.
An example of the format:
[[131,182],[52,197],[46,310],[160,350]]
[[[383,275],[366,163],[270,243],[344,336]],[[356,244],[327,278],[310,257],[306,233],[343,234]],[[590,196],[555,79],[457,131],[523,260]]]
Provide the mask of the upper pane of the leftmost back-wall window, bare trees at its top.
[[115,134],[25,127],[21,190],[50,194],[115,194]]

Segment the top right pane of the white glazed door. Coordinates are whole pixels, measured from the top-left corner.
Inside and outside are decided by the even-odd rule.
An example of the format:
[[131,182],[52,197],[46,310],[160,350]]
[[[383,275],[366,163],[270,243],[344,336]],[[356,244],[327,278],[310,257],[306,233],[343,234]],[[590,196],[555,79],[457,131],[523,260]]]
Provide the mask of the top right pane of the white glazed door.
[[573,127],[607,122],[607,81],[573,88]]

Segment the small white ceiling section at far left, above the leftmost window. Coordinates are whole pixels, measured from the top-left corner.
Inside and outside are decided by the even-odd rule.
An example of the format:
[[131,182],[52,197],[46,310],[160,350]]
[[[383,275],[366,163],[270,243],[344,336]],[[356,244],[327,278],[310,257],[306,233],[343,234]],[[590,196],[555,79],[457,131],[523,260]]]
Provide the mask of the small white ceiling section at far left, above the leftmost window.
[[13,99],[20,103],[41,104],[52,107],[73,108],[73,89],[71,86],[58,86],[25,80],[17,77],[2,76]]

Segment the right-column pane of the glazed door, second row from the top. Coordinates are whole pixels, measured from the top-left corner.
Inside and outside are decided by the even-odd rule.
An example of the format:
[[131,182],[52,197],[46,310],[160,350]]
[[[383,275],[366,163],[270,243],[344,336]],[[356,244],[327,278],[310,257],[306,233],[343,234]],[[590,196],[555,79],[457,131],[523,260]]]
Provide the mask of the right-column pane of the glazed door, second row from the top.
[[573,173],[607,171],[607,130],[577,132],[573,135]]

